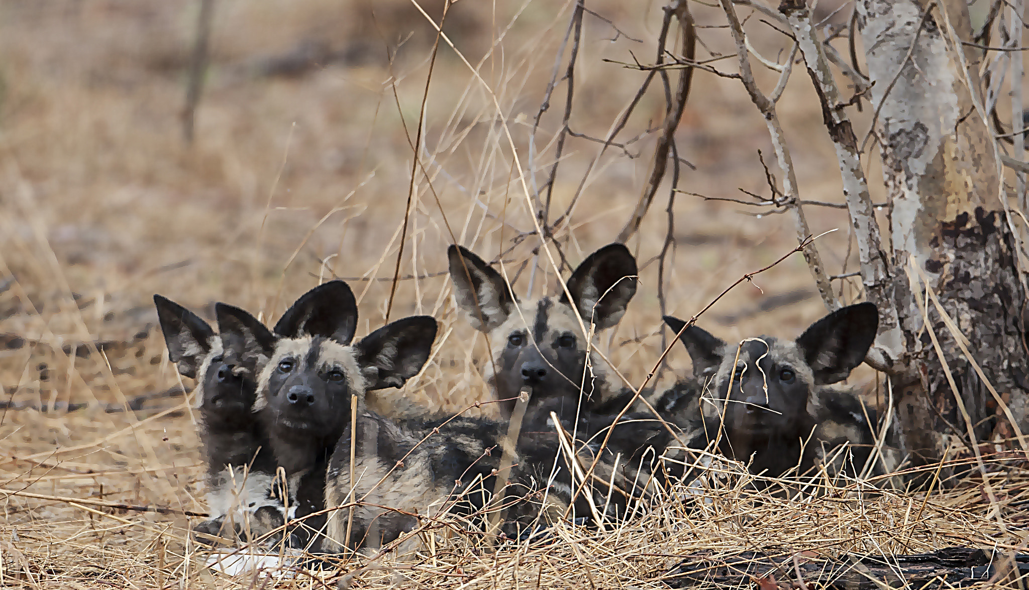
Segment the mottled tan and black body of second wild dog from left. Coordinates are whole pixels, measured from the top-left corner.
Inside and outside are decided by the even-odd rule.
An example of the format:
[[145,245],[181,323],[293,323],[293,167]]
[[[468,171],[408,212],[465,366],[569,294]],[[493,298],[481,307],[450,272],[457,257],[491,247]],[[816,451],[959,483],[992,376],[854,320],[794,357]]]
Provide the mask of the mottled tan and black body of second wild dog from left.
[[[571,468],[559,453],[560,443],[553,431],[521,434],[503,497],[493,502],[495,471],[500,468],[505,437],[505,425],[483,417],[397,423],[370,412],[362,414],[356,428],[340,440],[329,466],[328,506],[360,503],[354,510],[349,543],[348,511],[330,516],[328,537],[333,546],[382,547],[415,529],[419,524],[416,515],[459,514],[482,526],[488,505],[491,510],[503,509],[500,531],[508,538],[549,525],[566,511],[572,517],[590,517],[590,501],[604,510],[600,484],[580,493],[574,510],[569,511],[573,500]],[[350,462],[352,438],[354,464]],[[592,458],[588,447],[579,450],[583,469]],[[601,462],[596,474],[609,480],[610,465]],[[617,514],[624,505],[623,496],[613,497],[607,514]],[[400,548],[399,552],[406,550]]]

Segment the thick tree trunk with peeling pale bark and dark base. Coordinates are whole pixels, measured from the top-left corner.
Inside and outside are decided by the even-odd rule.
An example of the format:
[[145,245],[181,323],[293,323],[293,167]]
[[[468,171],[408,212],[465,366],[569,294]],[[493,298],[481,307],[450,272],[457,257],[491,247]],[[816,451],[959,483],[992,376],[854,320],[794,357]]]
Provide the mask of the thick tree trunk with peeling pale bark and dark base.
[[[994,140],[971,94],[980,87],[981,56],[955,46],[950,34],[970,37],[966,4],[859,0],[857,11],[890,196],[894,297],[907,351],[901,362],[910,369],[906,382],[895,383],[897,416],[913,462],[925,465],[944,455],[949,435],[967,438],[972,431],[983,440],[996,426],[1012,432],[996,419],[1004,413],[957,338],[967,338],[990,383],[1009,396],[1016,429],[1026,430],[1025,293],[1001,202]],[[916,298],[924,294],[913,292],[920,283],[909,281],[909,263],[920,269],[915,276],[925,276],[960,334],[948,329],[931,302],[920,307]],[[960,401],[967,416],[959,411]]]

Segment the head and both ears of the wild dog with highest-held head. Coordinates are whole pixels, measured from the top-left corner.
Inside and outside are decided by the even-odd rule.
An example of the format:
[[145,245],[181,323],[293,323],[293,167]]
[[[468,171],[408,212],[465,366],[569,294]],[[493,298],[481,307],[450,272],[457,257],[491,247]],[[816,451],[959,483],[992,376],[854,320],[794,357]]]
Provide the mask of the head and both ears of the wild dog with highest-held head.
[[[590,255],[568,279],[568,294],[519,301],[503,276],[460,246],[448,250],[455,297],[472,326],[489,334],[493,362],[487,379],[501,399],[525,388],[535,399],[568,397],[562,418],[574,415],[579,389],[599,401],[598,383],[583,381],[589,342],[576,311],[589,330],[618,323],[636,293],[636,260],[622,244]],[[594,373],[600,363],[593,363]],[[514,402],[505,408],[509,415]]]

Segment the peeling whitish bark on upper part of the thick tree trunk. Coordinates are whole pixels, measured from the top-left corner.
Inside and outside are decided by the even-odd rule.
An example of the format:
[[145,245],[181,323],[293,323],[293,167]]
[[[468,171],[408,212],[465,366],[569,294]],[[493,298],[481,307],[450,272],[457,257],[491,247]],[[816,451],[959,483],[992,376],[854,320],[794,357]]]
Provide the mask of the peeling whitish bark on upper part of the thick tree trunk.
[[[997,178],[986,126],[972,112],[959,61],[936,24],[938,12],[926,14],[926,9],[936,5],[913,0],[857,3],[868,75],[876,81],[872,102],[879,113],[876,135],[891,198],[893,257],[914,256],[935,288],[943,268],[934,262],[943,261],[930,241],[938,222],[953,221],[991,200]],[[967,24],[966,10],[961,20]],[[959,133],[959,120],[979,133]],[[977,123],[979,128],[971,128]],[[907,320],[904,331],[917,331],[921,319],[914,308],[900,315]]]

